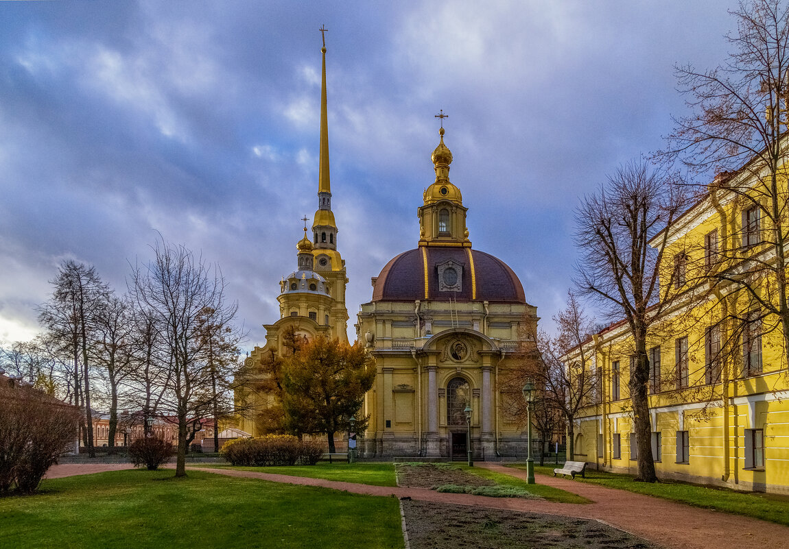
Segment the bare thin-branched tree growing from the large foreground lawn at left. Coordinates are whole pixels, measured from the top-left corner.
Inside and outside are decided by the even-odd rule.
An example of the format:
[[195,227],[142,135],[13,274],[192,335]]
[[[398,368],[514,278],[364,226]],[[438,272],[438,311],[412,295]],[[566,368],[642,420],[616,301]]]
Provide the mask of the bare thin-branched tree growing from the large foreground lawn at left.
[[150,311],[159,326],[170,369],[162,406],[178,420],[175,476],[184,477],[189,427],[194,432],[194,421],[210,414],[212,403],[211,368],[204,360],[208,340],[201,330],[206,323],[231,327],[237,304],[226,302],[225,280],[215,265],[182,245],[161,241],[153,250],[154,260],[133,270],[131,286],[136,306]]

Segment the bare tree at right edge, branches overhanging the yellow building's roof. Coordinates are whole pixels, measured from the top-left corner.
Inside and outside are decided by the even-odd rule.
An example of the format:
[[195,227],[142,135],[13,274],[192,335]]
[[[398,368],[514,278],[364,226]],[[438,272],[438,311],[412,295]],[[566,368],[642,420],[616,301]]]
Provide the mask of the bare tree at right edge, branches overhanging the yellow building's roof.
[[[737,32],[724,65],[676,67],[691,113],[675,118],[664,154],[690,169],[717,175],[709,185],[714,206],[734,197],[739,230],[722,224],[710,279],[740,291],[760,309],[763,332],[780,329],[789,365],[787,298],[787,188],[782,176],[789,129],[789,5],[783,0],[743,0],[731,14]],[[716,244],[717,246],[717,244]],[[736,307],[731,308],[737,310]],[[732,326],[752,318],[731,317]],[[736,346],[735,346],[736,347]]]

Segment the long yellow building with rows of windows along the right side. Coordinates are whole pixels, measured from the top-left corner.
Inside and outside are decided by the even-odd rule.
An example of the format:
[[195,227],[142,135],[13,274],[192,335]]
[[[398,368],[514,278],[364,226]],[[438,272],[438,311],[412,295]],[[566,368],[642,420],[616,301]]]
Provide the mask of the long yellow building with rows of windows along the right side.
[[[661,284],[673,284],[680,297],[647,342],[653,458],[660,478],[789,492],[783,332],[758,302],[772,301],[776,282],[769,269],[753,271],[760,262],[774,265],[775,251],[764,243],[772,236],[770,205],[757,198],[765,174],[754,172],[746,166],[718,176],[667,236]],[[782,185],[785,193],[785,178]],[[609,326],[584,350],[599,387],[575,422],[574,459],[635,473],[630,330]],[[567,365],[577,361],[578,350]]]

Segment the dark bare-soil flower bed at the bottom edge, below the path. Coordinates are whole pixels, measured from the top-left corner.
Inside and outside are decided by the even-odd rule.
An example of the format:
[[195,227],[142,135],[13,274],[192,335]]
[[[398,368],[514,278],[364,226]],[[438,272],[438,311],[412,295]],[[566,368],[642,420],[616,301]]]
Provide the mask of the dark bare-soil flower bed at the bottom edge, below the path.
[[411,549],[658,549],[598,521],[402,500]]

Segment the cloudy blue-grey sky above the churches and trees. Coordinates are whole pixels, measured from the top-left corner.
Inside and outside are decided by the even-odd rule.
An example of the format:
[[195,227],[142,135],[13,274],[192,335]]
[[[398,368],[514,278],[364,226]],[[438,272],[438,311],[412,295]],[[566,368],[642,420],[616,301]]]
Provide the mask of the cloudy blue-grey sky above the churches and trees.
[[[350,336],[416,246],[443,109],[473,246],[550,319],[573,209],[686,113],[673,66],[724,61],[733,0],[2,2],[0,343],[66,258],[118,291],[157,232],[218,263],[248,347],[317,207],[320,32]],[[549,325],[549,323],[546,323]]]

